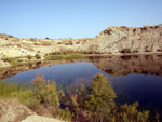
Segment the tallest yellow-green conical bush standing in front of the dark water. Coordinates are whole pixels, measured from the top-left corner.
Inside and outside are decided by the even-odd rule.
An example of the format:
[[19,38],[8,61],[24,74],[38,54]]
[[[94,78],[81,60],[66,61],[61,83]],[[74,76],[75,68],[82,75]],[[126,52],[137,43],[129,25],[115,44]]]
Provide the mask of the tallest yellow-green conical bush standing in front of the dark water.
[[93,122],[103,122],[108,120],[111,110],[114,108],[116,93],[111,83],[102,73],[95,76],[92,80],[90,95],[85,101],[89,110],[90,120]]

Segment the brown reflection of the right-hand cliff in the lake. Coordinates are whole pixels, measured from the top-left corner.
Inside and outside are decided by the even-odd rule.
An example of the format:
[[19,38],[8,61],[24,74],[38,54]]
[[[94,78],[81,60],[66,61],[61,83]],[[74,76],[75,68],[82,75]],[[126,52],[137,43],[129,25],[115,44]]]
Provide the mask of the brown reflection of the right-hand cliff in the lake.
[[162,55],[111,56],[91,58],[91,62],[111,76],[130,73],[162,76]]

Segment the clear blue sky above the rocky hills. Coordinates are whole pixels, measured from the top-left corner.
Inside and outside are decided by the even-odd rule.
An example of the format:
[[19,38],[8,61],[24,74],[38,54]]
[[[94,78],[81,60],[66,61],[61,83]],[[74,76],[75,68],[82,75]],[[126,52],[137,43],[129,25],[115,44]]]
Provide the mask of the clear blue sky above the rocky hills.
[[0,33],[93,38],[109,26],[162,24],[162,0],[0,0]]

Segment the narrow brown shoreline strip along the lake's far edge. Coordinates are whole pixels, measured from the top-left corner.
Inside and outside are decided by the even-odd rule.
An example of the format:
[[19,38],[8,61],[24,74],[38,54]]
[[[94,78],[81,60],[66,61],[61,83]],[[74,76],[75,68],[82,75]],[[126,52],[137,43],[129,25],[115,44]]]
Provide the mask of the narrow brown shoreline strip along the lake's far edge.
[[26,62],[24,65],[19,65],[17,67],[0,67],[0,79],[5,79],[10,78],[18,72],[22,71],[27,71],[27,70],[32,70],[36,68],[40,67],[45,67],[45,66],[52,66],[52,65],[57,65],[57,64],[67,64],[67,63],[75,63],[75,62],[89,62],[91,58],[104,58],[104,57],[109,57],[111,58],[112,56],[114,57],[122,57],[122,56],[143,56],[143,55],[162,55],[162,53],[144,53],[144,54],[87,54],[83,58],[71,58],[71,59],[56,59],[56,60],[45,60],[45,59],[39,59],[35,62]]

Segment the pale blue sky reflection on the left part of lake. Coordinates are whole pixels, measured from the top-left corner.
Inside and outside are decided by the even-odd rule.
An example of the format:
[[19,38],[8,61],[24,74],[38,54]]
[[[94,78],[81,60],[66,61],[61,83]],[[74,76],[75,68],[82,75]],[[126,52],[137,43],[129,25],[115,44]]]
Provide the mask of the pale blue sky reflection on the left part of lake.
[[41,67],[39,69],[19,72],[9,79],[8,81],[15,82],[29,82],[36,78],[36,74],[44,76],[44,79],[55,80],[56,82],[72,82],[78,78],[91,79],[97,72],[104,73],[100,69],[95,67],[91,63],[73,63],[73,64],[60,64],[49,67]]

